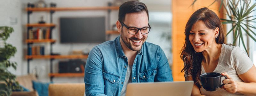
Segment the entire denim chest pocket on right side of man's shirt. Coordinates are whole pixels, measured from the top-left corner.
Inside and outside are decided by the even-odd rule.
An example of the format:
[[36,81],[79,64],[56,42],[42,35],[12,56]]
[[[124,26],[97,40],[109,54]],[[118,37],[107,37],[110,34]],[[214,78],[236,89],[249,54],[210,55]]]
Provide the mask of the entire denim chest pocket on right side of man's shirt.
[[140,82],[154,82],[156,68],[139,72]]

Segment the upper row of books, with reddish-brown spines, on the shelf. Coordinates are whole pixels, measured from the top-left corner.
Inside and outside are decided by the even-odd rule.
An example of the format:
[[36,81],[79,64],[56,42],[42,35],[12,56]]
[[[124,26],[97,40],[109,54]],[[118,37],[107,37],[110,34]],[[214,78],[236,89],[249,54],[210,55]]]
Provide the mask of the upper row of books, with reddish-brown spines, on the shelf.
[[50,39],[51,33],[50,28],[37,28],[37,29],[29,29],[28,31],[28,39]]

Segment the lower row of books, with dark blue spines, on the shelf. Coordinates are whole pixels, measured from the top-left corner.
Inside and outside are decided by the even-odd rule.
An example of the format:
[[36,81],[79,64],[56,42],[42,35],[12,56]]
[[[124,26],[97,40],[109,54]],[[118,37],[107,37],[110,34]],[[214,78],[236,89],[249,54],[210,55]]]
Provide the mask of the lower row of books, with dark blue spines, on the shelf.
[[29,46],[28,55],[44,55],[44,46]]

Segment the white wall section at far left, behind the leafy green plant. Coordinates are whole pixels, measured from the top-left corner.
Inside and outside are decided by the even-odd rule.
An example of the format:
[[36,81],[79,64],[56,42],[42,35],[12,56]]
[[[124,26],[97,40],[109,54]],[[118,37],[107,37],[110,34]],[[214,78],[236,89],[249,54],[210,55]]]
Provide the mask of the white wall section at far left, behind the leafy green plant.
[[18,63],[17,71],[13,68],[9,70],[13,74],[21,75],[23,56],[23,37],[22,37],[22,27],[21,27],[21,4],[20,0],[0,0],[0,26],[11,26],[14,32],[7,39],[7,43],[12,44],[17,48],[17,52],[11,61],[16,61]]

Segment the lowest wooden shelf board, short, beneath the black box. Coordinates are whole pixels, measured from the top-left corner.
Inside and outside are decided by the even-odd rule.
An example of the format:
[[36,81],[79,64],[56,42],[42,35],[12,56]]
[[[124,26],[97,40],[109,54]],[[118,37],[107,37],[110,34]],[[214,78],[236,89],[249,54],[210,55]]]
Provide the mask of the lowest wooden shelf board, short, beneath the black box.
[[84,73],[49,73],[50,77],[84,77]]

